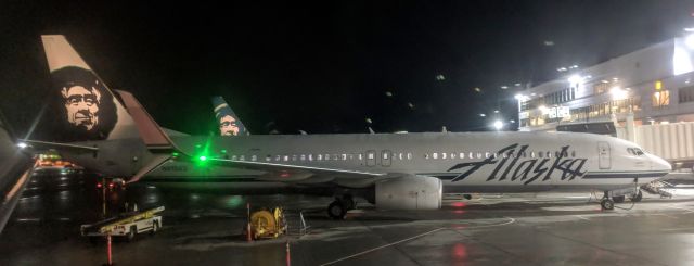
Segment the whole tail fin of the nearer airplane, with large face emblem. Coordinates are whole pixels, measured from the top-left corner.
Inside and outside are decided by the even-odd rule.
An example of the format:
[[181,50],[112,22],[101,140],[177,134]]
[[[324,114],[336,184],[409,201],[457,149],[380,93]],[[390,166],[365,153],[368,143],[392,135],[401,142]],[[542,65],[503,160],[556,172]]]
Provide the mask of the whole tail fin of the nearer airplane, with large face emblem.
[[[62,35],[41,36],[51,73],[49,110],[39,127],[56,142],[138,138],[132,117]],[[28,136],[28,138],[33,138]]]

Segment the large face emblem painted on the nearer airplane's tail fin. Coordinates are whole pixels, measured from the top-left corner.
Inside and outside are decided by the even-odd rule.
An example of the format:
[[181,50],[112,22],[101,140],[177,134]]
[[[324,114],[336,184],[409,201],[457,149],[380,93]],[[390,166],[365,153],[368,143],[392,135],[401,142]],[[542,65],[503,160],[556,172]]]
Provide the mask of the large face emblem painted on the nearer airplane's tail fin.
[[57,134],[63,140],[102,140],[117,122],[113,96],[89,69],[67,66],[51,73],[61,99]]

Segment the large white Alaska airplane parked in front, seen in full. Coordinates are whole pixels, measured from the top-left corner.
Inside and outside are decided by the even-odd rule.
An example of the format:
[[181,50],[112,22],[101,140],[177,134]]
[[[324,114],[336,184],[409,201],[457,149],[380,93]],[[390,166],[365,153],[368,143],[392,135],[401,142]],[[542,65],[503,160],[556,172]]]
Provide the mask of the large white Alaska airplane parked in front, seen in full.
[[323,187],[335,195],[327,214],[343,218],[355,197],[377,208],[436,210],[445,192],[599,190],[601,207],[613,210],[671,170],[635,143],[575,132],[169,136],[130,92],[110,90],[65,37],[42,41],[57,102],[47,113],[57,127],[26,141],[129,182]]

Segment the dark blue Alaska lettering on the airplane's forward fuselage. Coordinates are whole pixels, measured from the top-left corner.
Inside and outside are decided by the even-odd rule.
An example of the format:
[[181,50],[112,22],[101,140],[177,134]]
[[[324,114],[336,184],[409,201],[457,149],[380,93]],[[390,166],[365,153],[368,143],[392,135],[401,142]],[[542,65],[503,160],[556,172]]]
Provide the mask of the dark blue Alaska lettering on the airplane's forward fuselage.
[[[479,162],[457,164],[448,169],[448,172],[461,168],[467,168],[467,170],[460,174],[451,181],[454,182],[465,179],[487,165],[494,166],[493,172],[491,172],[487,177],[487,181],[494,179],[499,181],[510,179],[512,181],[523,181],[523,185],[528,185],[540,177],[542,177],[542,181],[550,180],[553,173],[560,173],[561,180],[574,180],[577,176],[580,177],[586,174],[582,169],[588,159],[567,159],[568,145],[562,147],[562,150],[557,152],[558,156],[520,160],[522,155],[526,154],[525,152],[528,147],[529,145],[522,145],[516,152],[516,148],[518,148],[518,144],[516,143],[499,150],[494,153],[498,154],[496,156],[489,156],[488,159]],[[552,160],[554,161],[551,162]]]

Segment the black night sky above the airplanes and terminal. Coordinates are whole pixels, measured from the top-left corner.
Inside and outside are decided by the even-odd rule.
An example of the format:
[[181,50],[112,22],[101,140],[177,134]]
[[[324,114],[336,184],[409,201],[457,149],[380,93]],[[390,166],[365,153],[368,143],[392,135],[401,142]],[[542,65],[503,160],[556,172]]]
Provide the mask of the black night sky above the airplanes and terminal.
[[20,134],[50,85],[42,34],[164,127],[215,131],[219,94],[254,134],[332,134],[368,132],[367,117],[377,132],[490,130],[557,67],[694,26],[694,1],[26,2],[0,2],[0,106]]

